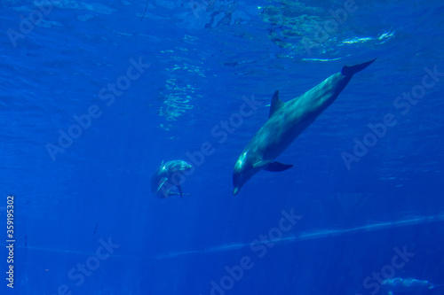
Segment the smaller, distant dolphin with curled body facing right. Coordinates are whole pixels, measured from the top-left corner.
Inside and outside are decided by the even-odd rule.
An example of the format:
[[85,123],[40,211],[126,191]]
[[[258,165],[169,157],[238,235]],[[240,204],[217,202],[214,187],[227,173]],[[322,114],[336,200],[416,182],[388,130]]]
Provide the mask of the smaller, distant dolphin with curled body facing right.
[[[155,170],[155,174],[151,177],[151,190],[155,193],[155,196],[159,198],[168,198],[170,195],[180,195],[183,197],[182,187],[180,184],[183,182],[184,171],[188,171],[192,166],[186,161],[175,159],[163,163]],[[177,192],[171,192],[171,188],[177,187]]]

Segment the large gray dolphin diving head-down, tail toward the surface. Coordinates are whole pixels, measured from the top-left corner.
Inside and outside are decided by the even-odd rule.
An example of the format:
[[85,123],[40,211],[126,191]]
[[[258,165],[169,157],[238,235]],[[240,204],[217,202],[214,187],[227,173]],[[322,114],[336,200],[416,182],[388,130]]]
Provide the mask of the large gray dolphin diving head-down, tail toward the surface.
[[276,91],[269,119],[251,138],[234,165],[233,194],[237,194],[242,185],[262,169],[283,171],[293,167],[273,160],[335,101],[353,74],[369,66],[375,59],[356,66],[344,66],[340,73],[329,76],[302,96],[285,103],[281,102]]

